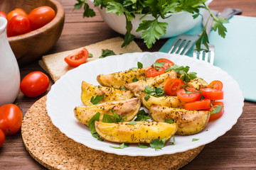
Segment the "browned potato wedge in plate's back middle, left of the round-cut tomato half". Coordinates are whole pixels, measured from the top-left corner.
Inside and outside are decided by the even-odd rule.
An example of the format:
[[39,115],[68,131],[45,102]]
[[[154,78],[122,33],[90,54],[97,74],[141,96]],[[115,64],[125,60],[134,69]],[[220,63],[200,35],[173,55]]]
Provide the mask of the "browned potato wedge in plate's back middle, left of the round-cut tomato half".
[[125,86],[125,88],[134,92],[134,96],[141,97],[142,91],[144,91],[146,86],[164,87],[164,85],[166,84],[166,82],[169,79],[175,79],[175,78],[177,78],[177,73],[174,70],[171,70],[171,72],[166,72],[166,73],[161,74],[156,77],[149,77],[149,78],[141,79],[134,83],[124,84],[124,86]]

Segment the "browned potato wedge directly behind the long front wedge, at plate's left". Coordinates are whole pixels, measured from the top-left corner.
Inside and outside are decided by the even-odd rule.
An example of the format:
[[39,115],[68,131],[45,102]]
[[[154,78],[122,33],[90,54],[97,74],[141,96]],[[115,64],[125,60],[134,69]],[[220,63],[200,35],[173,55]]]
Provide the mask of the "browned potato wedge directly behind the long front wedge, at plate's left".
[[114,113],[117,113],[117,115],[127,117],[124,119],[125,121],[130,121],[139,112],[141,104],[140,98],[131,98],[125,101],[110,101],[93,106],[75,107],[74,113],[75,118],[85,125],[89,123],[89,120],[97,112],[100,112],[100,121],[102,121],[104,114],[113,115],[111,109]]

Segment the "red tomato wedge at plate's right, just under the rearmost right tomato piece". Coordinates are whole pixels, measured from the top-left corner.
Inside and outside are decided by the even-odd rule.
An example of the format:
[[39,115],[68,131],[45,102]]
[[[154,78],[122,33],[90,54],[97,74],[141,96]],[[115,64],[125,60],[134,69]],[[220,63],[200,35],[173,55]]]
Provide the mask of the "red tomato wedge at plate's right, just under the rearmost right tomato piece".
[[201,88],[202,94],[205,98],[210,100],[222,100],[223,99],[223,91],[210,89],[210,88]]

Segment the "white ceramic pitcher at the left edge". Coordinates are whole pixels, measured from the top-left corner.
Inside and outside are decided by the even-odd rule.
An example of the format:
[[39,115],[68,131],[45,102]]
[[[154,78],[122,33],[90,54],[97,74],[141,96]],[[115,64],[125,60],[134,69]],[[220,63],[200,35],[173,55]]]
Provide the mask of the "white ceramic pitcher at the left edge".
[[7,21],[0,17],[0,106],[13,103],[18,95],[21,76],[7,35]]

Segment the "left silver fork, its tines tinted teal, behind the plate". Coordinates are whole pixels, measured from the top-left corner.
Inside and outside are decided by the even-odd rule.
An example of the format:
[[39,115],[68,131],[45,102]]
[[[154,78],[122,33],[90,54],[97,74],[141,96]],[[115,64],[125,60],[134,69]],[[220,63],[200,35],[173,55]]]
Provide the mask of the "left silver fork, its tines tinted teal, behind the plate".
[[[213,13],[213,15],[218,14],[218,11],[211,10],[211,12]],[[206,11],[203,14],[203,26],[206,25],[206,21],[208,19],[208,16],[209,16],[209,12]],[[213,24],[213,20],[210,21],[210,19],[209,19],[208,27],[211,28],[212,24]],[[178,37],[172,43],[168,53],[169,54],[186,55],[186,52],[188,52],[188,50],[192,47],[194,42],[196,42],[196,40],[198,40],[200,35],[201,34],[198,34],[198,35],[186,35],[186,34],[178,35]]]

